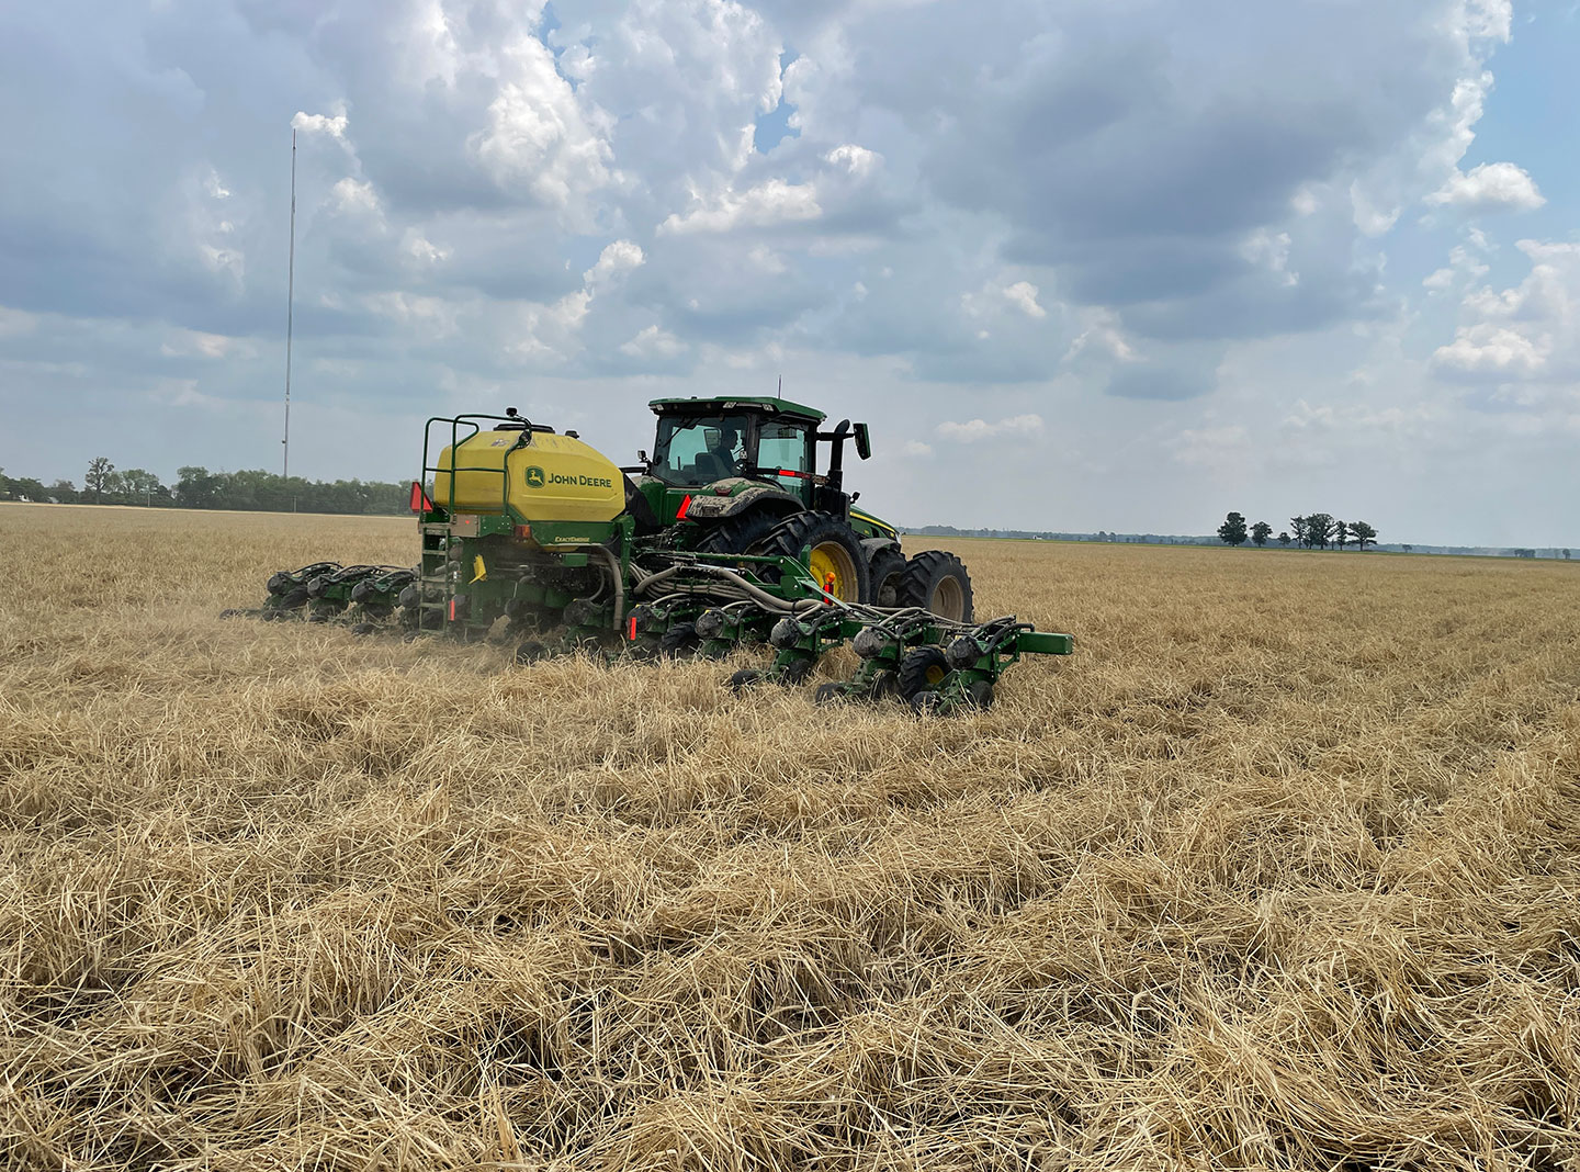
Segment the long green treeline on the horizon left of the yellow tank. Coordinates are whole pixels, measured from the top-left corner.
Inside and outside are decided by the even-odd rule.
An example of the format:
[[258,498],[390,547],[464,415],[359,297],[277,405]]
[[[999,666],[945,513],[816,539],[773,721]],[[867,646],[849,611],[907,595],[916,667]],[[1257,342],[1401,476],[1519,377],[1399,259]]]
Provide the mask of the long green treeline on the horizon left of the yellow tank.
[[46,485],[30,477],[9,477],[0,469],[0,501],[41,504],[134,504],[150,509],[237,509],[265,513],[404,513],[411,485],[373,480],[303,480],[273,472],[210,472],[207,468],[177,469],[174,485],[160,482],[142,468],[118,471],[98,456],[88,463],[82,488],[70,480]]

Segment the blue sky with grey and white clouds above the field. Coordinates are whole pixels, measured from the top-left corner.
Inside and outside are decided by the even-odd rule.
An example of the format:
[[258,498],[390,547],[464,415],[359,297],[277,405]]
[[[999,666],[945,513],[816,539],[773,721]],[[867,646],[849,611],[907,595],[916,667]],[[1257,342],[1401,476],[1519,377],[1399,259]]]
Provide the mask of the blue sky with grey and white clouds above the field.
[[1577,545],[1575,0],[0,14],[0,466],[866,419],[899,523]]

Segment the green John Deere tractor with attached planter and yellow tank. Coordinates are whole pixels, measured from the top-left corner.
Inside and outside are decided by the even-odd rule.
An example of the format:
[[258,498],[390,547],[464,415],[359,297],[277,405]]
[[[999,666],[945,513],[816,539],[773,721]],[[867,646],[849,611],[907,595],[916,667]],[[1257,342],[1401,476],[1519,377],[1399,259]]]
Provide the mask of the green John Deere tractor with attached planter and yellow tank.
[[864,423],[825,430],[823,412],[768,396],[649,406],[653,455],[629,468],[514,408],[428,420],[412,483],[420,564],[280,572],[259,613],[510,638],[521,662],[768,644],[771,663],[738,671],[736,686],[798,682],[852,641],[861,668],[820,700],[899,695],[939,709],[991,703],[1025,652],[1070,652],[1068,635],[1014,618],[978,624],[957,558],[907,559],[894,526],[853,507],[845,444],[871,456]]

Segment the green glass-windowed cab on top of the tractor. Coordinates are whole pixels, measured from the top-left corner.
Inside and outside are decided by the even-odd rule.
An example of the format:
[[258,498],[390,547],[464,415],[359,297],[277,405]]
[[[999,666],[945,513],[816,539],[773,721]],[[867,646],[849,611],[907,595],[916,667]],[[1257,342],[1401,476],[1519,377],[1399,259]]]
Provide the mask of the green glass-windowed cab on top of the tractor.
[[[826,419],[822,411],[782,398],[670,398],[649,406],[659,426],[643,472],[664,485],[665,498],[675,494],[676,501],[698,490],[733,496],[755,485],[776,488],[803,509],[845,515],[850,509],[842,485],[845,441],[855,439],[863,458],[871,455],[866,423],[852,428],[845,422],[822,431]],[[817,469],[820,442],[830,445],[823,472]],[[656,512],[664,515],[662,509]]]

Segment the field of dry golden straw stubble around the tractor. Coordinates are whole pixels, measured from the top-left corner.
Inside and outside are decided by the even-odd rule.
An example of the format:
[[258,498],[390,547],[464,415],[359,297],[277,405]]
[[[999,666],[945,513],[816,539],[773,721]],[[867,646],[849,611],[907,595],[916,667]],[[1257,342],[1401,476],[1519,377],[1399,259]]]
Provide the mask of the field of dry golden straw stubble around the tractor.
[[1580,567],[959,543],[965,719],[0,505],[0,1164],[1580,1169]]

